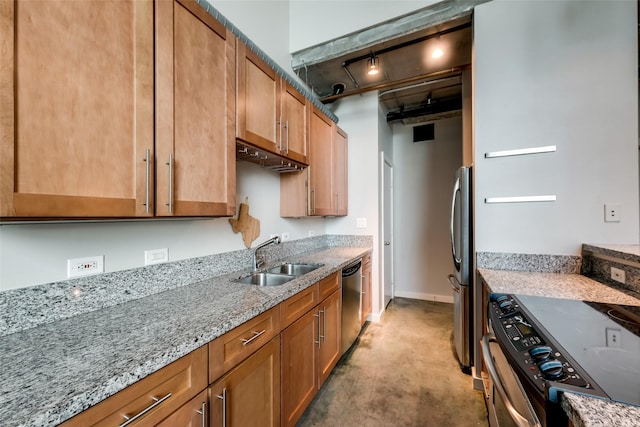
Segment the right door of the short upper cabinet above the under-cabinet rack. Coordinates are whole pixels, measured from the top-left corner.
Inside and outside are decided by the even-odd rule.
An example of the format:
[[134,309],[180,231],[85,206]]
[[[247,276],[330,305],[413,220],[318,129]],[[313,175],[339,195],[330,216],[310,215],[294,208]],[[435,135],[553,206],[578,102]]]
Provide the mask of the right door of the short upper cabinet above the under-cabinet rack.
[[307,160],[307,99],[286,81],[282,81],[282,153],[290,159]]

